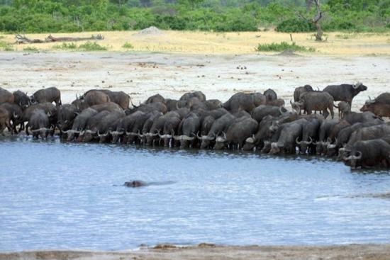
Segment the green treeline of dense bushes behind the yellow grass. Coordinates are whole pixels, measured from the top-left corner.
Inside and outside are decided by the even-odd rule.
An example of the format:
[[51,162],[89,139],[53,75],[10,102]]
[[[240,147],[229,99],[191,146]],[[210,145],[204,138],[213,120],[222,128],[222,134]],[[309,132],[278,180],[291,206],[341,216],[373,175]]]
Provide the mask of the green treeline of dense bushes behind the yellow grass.
[[[390,29],[390,0],[321,1],[323,30]],[[313,8],[312,8],[313,9]],[[301,18],[305,0],[0,0],[0,31],[59,33],[96,30],[172,30],[282,32],[314,31]]]

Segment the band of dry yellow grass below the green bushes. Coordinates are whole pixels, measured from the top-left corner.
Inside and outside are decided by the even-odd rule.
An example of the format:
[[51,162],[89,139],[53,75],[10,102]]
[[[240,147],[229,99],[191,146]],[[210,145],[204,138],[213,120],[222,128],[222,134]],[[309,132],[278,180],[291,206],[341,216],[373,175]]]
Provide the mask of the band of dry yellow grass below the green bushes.
[[[99,45],[108,47],[108,51],[132,52],[177,52],[194,54],[253,54],[259,43],[290,42],[289,33],[244,32],[244,33],[209,33],[190,31],[163,31],[160,35],[139,35],[137,31],[87,32],[87,33],[55,33],[55,37],[74,36],[87,37],[91,34],[104,35]],[[0,34],[1,35],[1,34]],[[14,43],[13,35],[1,35],[2,41]],[[28,34],[28,38],[44,39],[48,33]],[[297,45],[313,47],[316,52],[306,55],[390,55],[390,33],[326,33],[325,41],[318,43],[313,33],[293,33]],[[79,45],[82,42],[77,42]],[[123,44],[131,43],[132,50],[123,48]],[[30,45],[13,45],[14,50],[23,51],[31,46],[39,50],[55,50],[57,43],[41,43]]]

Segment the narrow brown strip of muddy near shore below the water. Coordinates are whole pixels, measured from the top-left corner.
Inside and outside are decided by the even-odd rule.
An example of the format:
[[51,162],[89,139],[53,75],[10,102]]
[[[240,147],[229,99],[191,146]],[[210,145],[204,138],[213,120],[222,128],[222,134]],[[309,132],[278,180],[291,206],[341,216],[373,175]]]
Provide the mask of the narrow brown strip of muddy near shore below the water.
[[0,253],[0,260],[77,259],[77,260],[186,260],[186,259],[390,259],[390,244],[334,247],[223,247],[199,244],[195,247],[158,247],[138,251],[23,251]]

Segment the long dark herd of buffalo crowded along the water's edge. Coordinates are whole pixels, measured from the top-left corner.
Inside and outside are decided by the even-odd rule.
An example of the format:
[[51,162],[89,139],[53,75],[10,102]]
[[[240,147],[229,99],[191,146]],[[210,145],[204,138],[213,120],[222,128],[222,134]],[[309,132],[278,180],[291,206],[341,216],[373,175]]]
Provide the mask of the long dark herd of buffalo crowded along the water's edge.
[[390,117],[390,93],[369,98],[361,112],[352,112],[352,99],[365,90],[361,83],[323,91],[300,86],[288,111],[272,89],[240,92],[225,103],[206,99],[201,91],[179,100],[156,94],[135,106],[123,91],[92,89],[62,104],[55,87],[32,96],[0,88],[0,133],[24,130],[44,139],[57,129],[68,141],[299,152],[336,157],[354,169],[390,167],[390,123],[382,119]]

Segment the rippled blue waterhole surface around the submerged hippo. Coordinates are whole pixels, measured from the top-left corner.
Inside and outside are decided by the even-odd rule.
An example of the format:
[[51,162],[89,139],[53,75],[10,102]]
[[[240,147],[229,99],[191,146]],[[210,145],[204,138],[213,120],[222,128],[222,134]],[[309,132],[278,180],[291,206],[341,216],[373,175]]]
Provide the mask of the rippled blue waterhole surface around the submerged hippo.
[[0,140],[0,158],[0,251],[390,242],[390,199],[376,196],[389,171],[23,137]]

